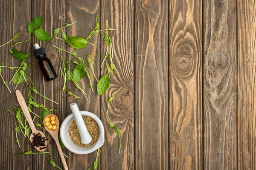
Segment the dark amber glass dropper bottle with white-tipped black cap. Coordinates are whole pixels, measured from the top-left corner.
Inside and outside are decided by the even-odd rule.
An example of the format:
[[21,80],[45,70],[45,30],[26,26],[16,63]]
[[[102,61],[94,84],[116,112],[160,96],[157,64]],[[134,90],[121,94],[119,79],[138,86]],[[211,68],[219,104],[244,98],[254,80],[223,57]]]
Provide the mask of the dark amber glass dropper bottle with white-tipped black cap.
[[44,74],[45,80],[48,82],[57,78],[57,74],[52,67],[51,61],[46,57],[44,48],[40,48],[38,44],[35,44],[35,57],[39,60],[38,65]]

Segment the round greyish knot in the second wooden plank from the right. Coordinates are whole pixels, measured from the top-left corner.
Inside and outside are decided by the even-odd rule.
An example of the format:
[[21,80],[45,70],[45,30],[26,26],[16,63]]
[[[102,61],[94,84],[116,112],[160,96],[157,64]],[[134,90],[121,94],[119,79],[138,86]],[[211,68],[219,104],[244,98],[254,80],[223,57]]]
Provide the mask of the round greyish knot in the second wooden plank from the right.
[[216,52],[212,54],[212,64],[213,68],[215,70],[223,70],[224,68],[227,67],[228,65],[228,57],[227,55],[221,53],[221,52]]

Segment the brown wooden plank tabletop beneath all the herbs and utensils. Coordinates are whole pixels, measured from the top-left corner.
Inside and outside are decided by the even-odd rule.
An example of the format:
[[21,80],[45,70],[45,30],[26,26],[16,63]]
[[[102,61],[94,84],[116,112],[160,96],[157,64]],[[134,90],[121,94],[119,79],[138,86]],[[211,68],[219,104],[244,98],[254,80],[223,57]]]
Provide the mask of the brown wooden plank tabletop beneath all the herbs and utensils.
[[[46,82],[38,67],[29,69],[28,77],[38,91],[58,101],[55,105],[35,96],[40,103],[55,108],[53,113],[61,122],[71,113],[71,102],[100,117],[105,144],[98,169],[256,169],[255,0],[0,0],[0,44],[17,31],[21,31],[17,40],[26,39],[27,24],[40,15],[41,28],[51,35],[55,28],[78,20],[66,34],[86,37],[94,28],[97,13],[100,28],[117,29],[111,32],[117,73],[105,94],[92,93],[86,78],[80,83],[89,102],[62,93],[61,55],[52,42],[40,45],[58,78]],[[94,68],[100,77],[106,46],[100,35],[92,42],[96,46],[78,54],[98,55]],[[31,54],[32,45],[25,43],[17,49]],[[63,42],[57,45],[69,50]],[[4,65],[19,65],[8,54],[9,48],[0,48],[0,60]],[[34,54],[28,62],[37,62]],[[2,74],[9,82],[13,72],[4,69]],[[10,86],[14,92],[15,85]],[[110,117],[122,133],[121,153],[118,136],[108,129],[105,113],[108,98],[120,86]],[[95,81],[93,88],[96,90]],[[22,83],[17,89],[26,96],[29,87]],[[71,82],[67,82],[67,89],[81,96]],[[14,156],[35,149],[21,134],[20,147],[13,141],[17,122],[4,108],[17,104],[17,100],[2,83],[0,95],[0,169],[55,169],[46,155]],[[53,159],[62,167],[55,143],[46,134],[48,149],[55,150]],[[70,170],[87,169],[96,157],[96,152],[77,155],[66,148],[64,153]]]

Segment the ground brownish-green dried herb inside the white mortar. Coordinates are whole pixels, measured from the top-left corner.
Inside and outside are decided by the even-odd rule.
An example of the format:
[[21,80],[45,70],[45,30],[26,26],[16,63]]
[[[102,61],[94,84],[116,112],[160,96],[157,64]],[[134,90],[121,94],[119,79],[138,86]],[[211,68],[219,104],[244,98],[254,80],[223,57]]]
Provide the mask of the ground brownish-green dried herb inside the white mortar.
[[99,138],[99,126],[97,122],[89,116],[83,116],[83,120],[88,132],[90,133],[90,136],[92,136],[92,142],[90,142],[89,144],[82,144],[80,133],[75,120],[71,122],[70,127],[68,129],[68,133],[71,141],[74,144],[80,147],[89,147],[90,145],[94,144]]

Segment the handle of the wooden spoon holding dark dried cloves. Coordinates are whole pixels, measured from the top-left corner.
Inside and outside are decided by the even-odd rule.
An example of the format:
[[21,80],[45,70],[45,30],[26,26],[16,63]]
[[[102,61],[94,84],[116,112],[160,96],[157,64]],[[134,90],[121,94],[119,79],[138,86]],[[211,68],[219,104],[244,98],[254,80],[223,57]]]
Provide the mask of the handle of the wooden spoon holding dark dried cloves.
[[20,104],[20,107],[21,107],[24,115],[26,116],[26,119],[29,122],[29,126],[30,126],[31,130],[32,131],[36,130],[34,122],[32,120],[32,117],[31,117],[31,115],[29,113],[29,109],[28,109],[28,107],[26,105],[26,101],[25,101],[24,97],[22,96],[22,94],[20,93],[19,90],[16,90],[16,96],[17,96],[17,100],[18,100],[18,102]]

